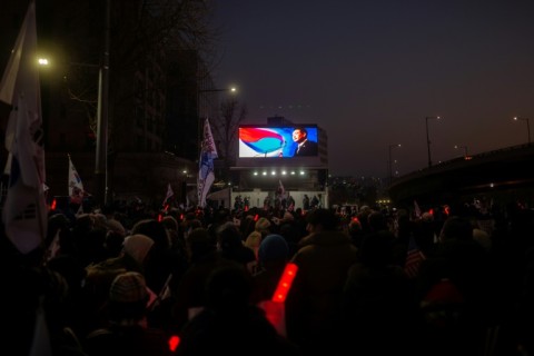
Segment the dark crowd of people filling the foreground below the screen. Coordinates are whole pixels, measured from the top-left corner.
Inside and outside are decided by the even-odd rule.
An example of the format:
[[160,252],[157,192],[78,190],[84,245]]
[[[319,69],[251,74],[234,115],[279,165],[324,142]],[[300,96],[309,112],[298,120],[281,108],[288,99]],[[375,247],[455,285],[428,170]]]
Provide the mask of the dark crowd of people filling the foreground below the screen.
[[534,215],[517,205],[56,210],[40,248],[0,240],[13,355],[534,353]]

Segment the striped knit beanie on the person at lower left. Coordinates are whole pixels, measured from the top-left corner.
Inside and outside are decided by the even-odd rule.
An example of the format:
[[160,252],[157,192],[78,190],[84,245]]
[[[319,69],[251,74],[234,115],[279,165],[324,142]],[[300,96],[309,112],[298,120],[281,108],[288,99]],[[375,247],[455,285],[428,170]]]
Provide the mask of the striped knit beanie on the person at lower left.
[[115,277],[109,288],[109,300],[116,303],[147,301],[145,277],[137,271],[127,271]]

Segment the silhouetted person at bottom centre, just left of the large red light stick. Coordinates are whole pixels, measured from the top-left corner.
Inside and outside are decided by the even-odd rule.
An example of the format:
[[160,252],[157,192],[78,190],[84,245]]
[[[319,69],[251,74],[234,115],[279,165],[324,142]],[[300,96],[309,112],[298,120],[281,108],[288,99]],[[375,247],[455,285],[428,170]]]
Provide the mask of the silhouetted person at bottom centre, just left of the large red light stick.
[[250,303],[251,293],[251,276],[243,265],[212,269],[206,281],[206,307],[181,328],[176,355],[301,355]]

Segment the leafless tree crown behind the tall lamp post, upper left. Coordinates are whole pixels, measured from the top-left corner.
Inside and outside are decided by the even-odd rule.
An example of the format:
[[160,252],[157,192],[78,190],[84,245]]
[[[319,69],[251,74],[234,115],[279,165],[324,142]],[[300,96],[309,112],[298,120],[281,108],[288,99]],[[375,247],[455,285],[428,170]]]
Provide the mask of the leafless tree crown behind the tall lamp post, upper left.
[[[62,0],[52,11],[55,23],[61,23],[56,29],[61,37],[58,48],[65,49],[62,55],[58,51],[58,57],[70,62],[63,75],[66,90],[71,100],[78,101],[87,110],[91,129],[96,129],[97,70],[82,67],[98,67],[100,62],[105,2]],[[208,63],[208,68],[215,66],[217,55],[212,44],[218,30],[211,27],[210,1],[113,0],[110,6],[110,108],[120,110],[120,106],[131,106],[134,95],[142,95],[125,90],[132,85],[131,81],[125,81],[125,75],[144,70],[161,51],[195,50]],[[113,122],[115,119],[118,122]],[[121,125],[120,117],[116,118],[110,112],[110,141]],[[113,127],[116,130],[112,130]]]

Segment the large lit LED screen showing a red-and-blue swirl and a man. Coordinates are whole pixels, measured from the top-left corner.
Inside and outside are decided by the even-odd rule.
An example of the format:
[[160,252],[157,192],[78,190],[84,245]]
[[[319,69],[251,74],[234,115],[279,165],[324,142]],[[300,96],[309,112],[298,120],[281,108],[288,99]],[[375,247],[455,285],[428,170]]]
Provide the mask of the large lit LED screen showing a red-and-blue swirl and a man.
[[240,126],[239,158],[316,157],[317,126]]

